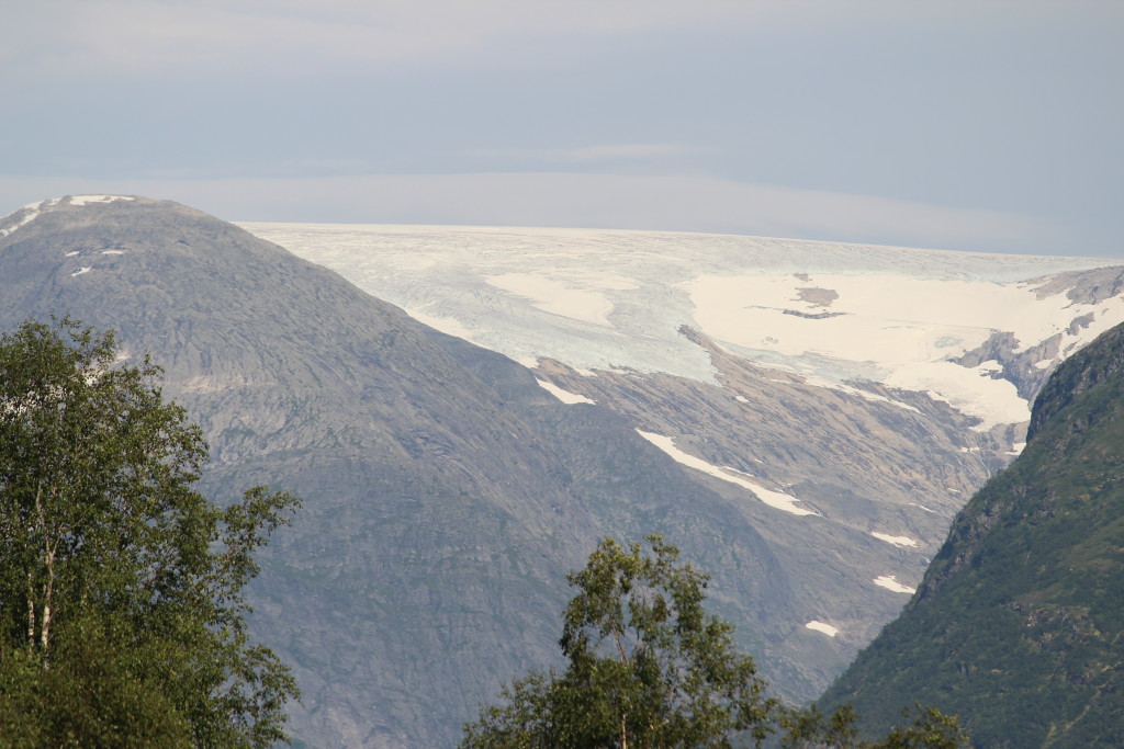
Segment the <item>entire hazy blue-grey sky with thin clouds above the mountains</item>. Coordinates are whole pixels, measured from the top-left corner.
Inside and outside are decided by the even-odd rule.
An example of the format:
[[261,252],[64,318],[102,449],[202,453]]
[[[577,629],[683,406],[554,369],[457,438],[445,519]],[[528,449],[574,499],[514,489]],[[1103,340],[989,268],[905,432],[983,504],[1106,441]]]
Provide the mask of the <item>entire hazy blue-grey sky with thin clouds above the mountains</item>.
[[1120,0],[36,0],[0,214],[743,234],[1124,257]]

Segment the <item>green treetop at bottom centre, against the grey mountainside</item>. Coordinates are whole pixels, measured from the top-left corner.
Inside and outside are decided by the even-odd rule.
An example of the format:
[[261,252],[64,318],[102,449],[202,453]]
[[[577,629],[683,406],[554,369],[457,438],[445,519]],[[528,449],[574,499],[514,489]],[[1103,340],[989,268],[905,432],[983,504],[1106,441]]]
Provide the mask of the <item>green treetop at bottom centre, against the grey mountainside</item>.
[[601,541],[564,614],[561,674],[532,673],[465,727],[475,747],[728,747],[763,739],[779,709],[733,627],[703,609],[707,575],[659,536]]

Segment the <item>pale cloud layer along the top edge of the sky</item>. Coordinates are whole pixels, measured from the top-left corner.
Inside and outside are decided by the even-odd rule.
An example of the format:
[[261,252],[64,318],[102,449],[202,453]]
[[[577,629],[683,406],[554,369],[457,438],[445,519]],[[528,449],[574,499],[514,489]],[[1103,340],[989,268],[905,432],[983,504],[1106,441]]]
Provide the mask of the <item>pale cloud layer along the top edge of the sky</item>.
[[[864,0],[867,4],[872,0]],[[447,62],[510,38],[762,30],[823,0],[39,0],[6,11],[0,51],[49,70],[215,73]],[[16,56],[9,52],[9,56]]]

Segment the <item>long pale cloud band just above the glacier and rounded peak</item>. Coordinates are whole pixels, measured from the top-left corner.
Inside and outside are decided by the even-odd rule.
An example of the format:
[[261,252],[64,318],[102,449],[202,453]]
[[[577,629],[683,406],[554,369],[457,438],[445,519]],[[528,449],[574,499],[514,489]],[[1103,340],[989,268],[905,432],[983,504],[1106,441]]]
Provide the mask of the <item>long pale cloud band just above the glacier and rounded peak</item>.
[[1054,244],[1059,229],[1026,216],[701,176],[529,173],[109,182],[0,179],[0,200],[11,209],[42,198],[87,192],[170,198],[241,221],[652,229],[980,252],[1060,252]]

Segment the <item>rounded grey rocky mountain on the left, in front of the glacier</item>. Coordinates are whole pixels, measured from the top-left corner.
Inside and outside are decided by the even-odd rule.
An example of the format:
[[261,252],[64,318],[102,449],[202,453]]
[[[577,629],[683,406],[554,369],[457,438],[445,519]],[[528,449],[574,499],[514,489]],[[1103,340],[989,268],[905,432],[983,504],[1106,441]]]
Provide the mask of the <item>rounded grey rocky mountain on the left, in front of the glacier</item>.
[[452,743],[502,681],[556,658],[564,576],[604,536],[663,532],[727,570],[746,649],[764,649],[765,609],[797,615],[747,519],[620,417],[329,271],[135,197],[44,201],[0,232],[0,327],[115,328],[203,427],[210,496],[303,495],[263,555],[253,627],[294,668],[309,745]]

